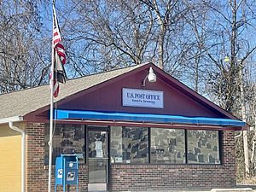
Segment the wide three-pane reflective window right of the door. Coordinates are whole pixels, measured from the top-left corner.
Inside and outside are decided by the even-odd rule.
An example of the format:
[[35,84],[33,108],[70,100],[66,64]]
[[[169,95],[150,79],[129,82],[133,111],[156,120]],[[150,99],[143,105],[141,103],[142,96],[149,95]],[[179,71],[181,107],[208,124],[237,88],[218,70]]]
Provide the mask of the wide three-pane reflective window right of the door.
[[150,164],[220,164],[218,131],[111,127],[111,163],[147,164],[148,147]]

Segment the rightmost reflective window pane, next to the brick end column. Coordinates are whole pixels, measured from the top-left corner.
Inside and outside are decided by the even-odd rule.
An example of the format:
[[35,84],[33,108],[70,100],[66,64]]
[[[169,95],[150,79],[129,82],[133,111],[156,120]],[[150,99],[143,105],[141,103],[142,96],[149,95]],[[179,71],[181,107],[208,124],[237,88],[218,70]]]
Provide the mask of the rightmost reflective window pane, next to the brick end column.
[[218,131],[188,130],[188,163],[219,164]]

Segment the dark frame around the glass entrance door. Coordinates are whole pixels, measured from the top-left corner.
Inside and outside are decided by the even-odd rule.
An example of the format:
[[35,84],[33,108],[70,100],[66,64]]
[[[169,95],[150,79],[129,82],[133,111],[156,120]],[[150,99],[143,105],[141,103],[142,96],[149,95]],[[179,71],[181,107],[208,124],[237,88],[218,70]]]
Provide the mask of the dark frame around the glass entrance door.
[[106,131],[107,132],[107,158],[108,158],[108,164],[107,164],[107,191],[110,189],[110,126],[108,125],[85,125],[85,164],[88,166],[88,184],[89,184],[89,134],[88,131]]

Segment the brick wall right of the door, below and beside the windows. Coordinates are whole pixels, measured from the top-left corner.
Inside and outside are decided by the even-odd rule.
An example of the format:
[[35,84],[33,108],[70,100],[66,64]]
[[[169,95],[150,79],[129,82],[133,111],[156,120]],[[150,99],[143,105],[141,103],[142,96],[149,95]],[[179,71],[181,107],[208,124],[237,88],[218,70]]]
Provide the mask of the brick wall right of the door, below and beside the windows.
[[234,132],[222,134],[222,165],[113,165],[112,191],[233,188]]

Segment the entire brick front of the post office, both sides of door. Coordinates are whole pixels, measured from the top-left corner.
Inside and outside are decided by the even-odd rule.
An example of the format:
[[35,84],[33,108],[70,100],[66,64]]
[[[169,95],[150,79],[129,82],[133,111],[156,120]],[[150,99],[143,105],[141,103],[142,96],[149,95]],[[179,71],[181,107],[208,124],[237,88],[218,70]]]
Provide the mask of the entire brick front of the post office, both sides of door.
[[[221,165],[112,165],[111,191],[232,188],[236,184],[234,131],[224,131]],[[55,189],[55,166],[52,168]],[[79,191],[87,191],[88,166],[79,166]],[[46,192],[48,166],[44,166],[44,124],[26,125],[26,191]],[[61,191],[61,187],[58,188]],[[70,191],[75,191],[72,188]]]

